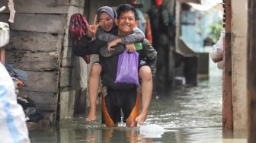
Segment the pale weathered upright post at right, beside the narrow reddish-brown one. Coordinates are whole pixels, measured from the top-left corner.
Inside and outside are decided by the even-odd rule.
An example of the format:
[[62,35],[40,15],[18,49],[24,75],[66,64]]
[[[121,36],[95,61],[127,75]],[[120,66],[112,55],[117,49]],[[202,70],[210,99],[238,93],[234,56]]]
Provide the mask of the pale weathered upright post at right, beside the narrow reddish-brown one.
[[232,94],[233,128],[247,128],[247,33],[248,0],[232,1]]

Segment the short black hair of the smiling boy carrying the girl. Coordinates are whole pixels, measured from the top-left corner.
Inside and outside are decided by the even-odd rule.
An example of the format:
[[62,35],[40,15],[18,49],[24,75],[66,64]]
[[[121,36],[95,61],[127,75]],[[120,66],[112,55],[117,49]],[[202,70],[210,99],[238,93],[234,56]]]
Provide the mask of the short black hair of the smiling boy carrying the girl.
[[130,4],[121,4],[117,7],[117,18],[119,19],[120,14],[126,11],[133,11],[135,20],[139,21],[139,16],[136,9],[133,7],[133,5],[130,5]]

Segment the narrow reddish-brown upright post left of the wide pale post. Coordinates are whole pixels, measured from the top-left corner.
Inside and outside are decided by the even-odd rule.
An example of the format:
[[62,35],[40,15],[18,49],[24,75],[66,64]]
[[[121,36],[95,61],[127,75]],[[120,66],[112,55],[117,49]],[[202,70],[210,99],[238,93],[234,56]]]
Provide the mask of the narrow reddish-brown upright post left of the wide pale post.
[[223,57],[222,127],[224,131],[233,129],[232,118],[232,56],[231,56],[231,0],[226,0],[226,37]]

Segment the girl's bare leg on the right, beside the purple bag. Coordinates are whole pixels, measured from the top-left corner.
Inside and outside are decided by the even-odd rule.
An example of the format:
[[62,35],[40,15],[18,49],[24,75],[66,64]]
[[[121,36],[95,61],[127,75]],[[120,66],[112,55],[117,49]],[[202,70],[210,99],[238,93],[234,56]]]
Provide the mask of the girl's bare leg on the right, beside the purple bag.
[[139,78],[142,79],[142,111],[136,118],[136,121],[139,124],[143,124],[146,121],[146,116],[148,115],[149,104],[153,91],[152,72],[148,65],[144,65],[139,68]]

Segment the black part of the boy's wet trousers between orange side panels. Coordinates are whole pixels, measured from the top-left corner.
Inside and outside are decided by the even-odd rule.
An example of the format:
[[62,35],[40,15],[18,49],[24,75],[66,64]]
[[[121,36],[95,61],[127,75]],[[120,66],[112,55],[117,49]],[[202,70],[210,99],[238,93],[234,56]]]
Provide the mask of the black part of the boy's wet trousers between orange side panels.
[[[115,124],[121,121],[121,110],[123,111],[123,122],[129,117],[136,103],[136,87],[129,90],[107,89],[104,97],[107,113]],[[102,116],[104,122],[104,116]]]

